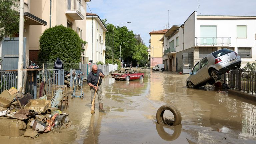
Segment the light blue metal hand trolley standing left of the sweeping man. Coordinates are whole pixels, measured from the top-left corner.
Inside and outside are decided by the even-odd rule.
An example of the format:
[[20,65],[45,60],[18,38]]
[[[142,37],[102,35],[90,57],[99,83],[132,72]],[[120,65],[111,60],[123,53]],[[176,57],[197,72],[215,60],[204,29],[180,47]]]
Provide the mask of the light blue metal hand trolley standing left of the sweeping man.
[[83,75],[82,72],[76,72],[74,74],[74,80],[73,80],[73,83],[72,83],[72,86],[73,86],[72,98],[74,98],[74,97],[80,97],[81,99],[84,98],[84,92],[83,92],[83,87],[84,86],[83,86],[82,75]]

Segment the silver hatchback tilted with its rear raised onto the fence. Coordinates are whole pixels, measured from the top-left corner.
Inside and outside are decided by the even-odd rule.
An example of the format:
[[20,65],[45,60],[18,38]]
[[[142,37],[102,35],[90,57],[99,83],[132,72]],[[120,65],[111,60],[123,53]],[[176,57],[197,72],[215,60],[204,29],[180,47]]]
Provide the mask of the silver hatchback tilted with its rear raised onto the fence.
[[229,49],[215,51],[197,62],[186,80],[188,88],[214,84],[230,69],[240,68],[241,57]]

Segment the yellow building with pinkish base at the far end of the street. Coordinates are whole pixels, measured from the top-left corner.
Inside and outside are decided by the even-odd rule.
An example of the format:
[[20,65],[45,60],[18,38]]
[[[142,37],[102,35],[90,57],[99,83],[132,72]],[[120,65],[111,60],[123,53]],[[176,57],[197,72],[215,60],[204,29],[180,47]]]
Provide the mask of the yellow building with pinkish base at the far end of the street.
[[168,29],[152,31],[150,35],[150,68],[163,63],[163,45],[159,39],[168,31]]

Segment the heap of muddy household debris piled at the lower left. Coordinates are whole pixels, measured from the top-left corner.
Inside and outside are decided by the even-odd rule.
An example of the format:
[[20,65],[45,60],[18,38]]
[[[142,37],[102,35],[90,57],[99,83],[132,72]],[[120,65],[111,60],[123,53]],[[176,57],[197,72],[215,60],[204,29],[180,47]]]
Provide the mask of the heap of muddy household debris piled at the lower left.
[[70,127],[68,114],[57,109],[61,97],[61,91],[49,101],[46,96],[33,99],[30,93],[23,95],[15,88],[4,90],[0,94],[0,135],[36,138],[40,133]]

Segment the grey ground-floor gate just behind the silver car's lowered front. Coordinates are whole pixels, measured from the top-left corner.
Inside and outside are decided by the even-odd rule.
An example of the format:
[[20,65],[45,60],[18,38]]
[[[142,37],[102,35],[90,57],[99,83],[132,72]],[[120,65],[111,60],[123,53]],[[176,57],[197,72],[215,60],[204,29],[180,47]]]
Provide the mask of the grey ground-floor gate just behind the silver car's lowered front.
[[183,73],[190,73],[193,68],[193,53],[182,54],[182,70]]

